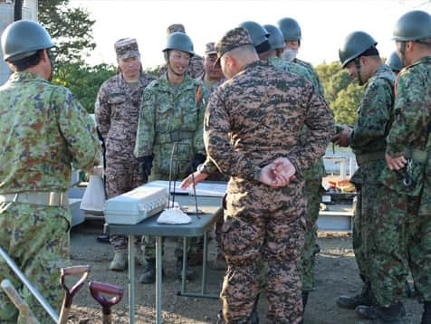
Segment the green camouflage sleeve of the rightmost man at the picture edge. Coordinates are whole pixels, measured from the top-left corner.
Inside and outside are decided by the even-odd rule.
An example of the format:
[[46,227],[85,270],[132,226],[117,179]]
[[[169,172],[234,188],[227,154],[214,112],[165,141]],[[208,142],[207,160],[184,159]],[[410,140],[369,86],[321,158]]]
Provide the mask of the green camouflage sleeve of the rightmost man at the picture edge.
[[391,157],[402,155],[408,146],[417,144],[428,128],[430,110],[425,106],[429,93],[425,82],[416,81],[413,73],[405,72],[397,80],[394,121],[387,138],[387,153]]

